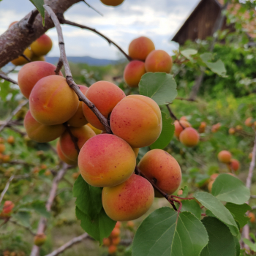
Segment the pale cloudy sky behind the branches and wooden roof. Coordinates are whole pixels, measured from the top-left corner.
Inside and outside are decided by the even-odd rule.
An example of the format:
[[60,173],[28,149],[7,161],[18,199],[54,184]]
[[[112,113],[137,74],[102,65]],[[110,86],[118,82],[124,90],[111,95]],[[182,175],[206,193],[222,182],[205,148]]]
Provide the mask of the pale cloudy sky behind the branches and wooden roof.
[[[124,0],[119,7],[106,7],[99,0],[87,0],[91,6],[102,12],[103,17],[91,10],[85,3],[73,5],[65,18],[75,21],[107,35],[126,52],[129,42],[140,36],[153,40],[157,49],[172,55],[176,47],[170,39],[176,34],[188,15],[200,0]],[[2,0],[0,2],[0,34],[14,20],[20,20],[34,9],[29,0]],[[91,31],[62,26],[68,56],[91,56],[99,59],[119,59],[120,53],[109,46],[105,39]],[[59,56],[57,34],[50,29],[47,34],[53,39],[49,56]]]

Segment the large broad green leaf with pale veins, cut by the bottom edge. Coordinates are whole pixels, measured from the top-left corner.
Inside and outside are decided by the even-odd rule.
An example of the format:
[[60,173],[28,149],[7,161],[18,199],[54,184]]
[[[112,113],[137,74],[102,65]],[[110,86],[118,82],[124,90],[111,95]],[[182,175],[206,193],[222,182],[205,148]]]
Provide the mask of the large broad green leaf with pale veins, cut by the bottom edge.
[[[138,228],[132,243],[133,256],[197,256],[208,243],[202,222],[189,212],[168,207],[151,213]],[[177,221],[177,222],[176,222]]]

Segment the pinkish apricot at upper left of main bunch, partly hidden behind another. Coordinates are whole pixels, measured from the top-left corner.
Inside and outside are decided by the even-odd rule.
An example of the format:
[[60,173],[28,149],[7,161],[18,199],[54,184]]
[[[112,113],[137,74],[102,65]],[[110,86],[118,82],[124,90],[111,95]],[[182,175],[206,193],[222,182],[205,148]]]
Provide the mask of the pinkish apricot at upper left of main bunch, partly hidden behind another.
[[[55,75],[56,66],[45,61],[34,61],[24,65],[18,72],[18,85],[21,93],[29,99],[35,84],[49,75]],[[63,77],[62,73],[60,75]]]

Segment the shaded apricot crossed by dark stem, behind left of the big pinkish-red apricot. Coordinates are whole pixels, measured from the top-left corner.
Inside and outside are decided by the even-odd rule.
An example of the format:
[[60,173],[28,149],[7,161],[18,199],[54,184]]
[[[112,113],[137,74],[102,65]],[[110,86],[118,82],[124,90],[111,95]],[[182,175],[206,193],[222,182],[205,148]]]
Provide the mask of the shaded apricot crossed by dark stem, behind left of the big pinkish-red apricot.
[[[82,148],[83,144],[86,143],[87,140],[94,137],[95,132],[88,127],[87,125],[83,127],[70,127],[70,132],[75,138],[78,139],[78,148]],[[61,151],[65,157],[76,162],[78,160],[78,151],[75,149],[75,145],[72,142],[72,139],[69,135],[69,132],[64,132],[60,138]]]

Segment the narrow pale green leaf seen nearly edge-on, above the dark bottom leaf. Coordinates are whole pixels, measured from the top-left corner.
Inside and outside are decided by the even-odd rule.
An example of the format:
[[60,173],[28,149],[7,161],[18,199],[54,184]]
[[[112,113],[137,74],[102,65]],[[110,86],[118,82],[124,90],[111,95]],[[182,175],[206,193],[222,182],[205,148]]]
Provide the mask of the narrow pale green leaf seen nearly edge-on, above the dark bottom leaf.
[[213,195],[207,192],[197,192],[194,197],[202,203],[207,209],[209,209],[214,216],[216,216],[220,221],[229,225],[230,231],[233,236],[237,236],[239,233],[238,226],[236,225],[235,219],[233,218],[230,211],[222,205],[222,203]]

